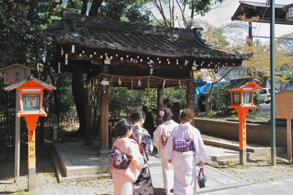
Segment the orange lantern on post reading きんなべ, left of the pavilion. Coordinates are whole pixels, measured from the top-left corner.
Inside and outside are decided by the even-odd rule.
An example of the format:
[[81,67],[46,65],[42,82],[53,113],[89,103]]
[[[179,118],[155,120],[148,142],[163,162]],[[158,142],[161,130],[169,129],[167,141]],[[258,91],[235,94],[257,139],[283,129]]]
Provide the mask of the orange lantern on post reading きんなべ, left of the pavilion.
[[36,127],[39,117],[46,117],[42,110],[43,89],[53,90],[56,87],[43,82],[33,75],[15,84],[5,87],[4,90],[19,90],[21,110],[17,117],[24,117],[28,129],[28,191],[36,188]]

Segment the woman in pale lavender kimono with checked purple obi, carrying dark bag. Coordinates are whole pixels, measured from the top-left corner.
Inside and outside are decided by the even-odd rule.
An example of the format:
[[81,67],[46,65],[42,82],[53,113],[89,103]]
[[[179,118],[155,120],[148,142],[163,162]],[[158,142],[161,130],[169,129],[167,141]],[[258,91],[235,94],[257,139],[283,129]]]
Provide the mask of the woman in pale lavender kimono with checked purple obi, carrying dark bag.
[[196,164],[204,169],[204,163],[209,162],[199,131],[190,125],[193,117],[188,108],[181,112],[181,124],[172,131],[165,147],[164,157],[174,166],[173,195],[196,195]]

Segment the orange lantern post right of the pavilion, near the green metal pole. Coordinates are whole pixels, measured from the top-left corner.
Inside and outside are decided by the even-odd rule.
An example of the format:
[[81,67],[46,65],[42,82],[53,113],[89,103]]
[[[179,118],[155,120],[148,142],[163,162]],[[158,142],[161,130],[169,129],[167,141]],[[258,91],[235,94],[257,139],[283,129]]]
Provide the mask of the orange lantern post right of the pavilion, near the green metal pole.
[[239,158],[240,164],[246,164],[246,117],[250,108],[256,108],[253,105],[253,93],[255,89],[262,89],[254,81],[254,78],[240,78],[230,80],[230,84],[223,89],[230,89],[231,105],[228,108],[234,108],[239,118]]

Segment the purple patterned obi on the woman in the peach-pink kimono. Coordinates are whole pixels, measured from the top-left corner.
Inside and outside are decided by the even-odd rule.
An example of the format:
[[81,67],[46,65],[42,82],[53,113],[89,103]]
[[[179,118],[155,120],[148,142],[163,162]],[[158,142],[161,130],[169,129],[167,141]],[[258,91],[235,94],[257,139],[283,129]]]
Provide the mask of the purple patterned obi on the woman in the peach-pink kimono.
[[130,163],[131,157],[126,155],[125,153],[121,153],[114,146],[113,149],[109,149],[108,160],[110,161],[110,163],[114,161],[114,167],[117,169],[127,169]]

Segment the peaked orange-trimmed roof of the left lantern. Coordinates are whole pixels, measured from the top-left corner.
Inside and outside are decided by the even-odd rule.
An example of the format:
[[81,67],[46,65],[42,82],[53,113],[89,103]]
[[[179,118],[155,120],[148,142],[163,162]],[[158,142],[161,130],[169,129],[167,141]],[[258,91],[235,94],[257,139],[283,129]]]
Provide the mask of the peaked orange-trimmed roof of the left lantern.
[[[29,81],[33,81],[32,85],[30,83],[28,83]],[[37,78],[34,78],[33,75],[30,75],[28,78],[25,78],[17,83],[14,83],[12,85],[4,87],[4,90],[10,91],[10,90],[16,89],[21,86],[28,86],[28,87],[29,86],[32,86],[32,87],[37,87],[37,86],[41,87],[42,86],[44,89],[47,89],[47,90],[55,90],[56,89],[55,86],[48,84],[46,82],[43,82],[42,80],[39,80]]]

